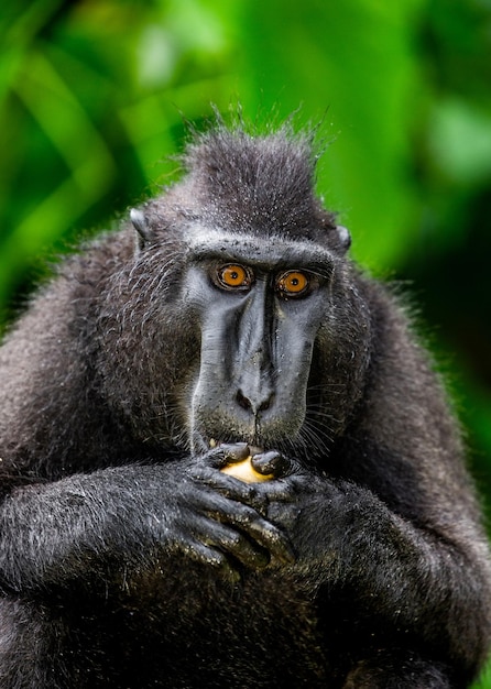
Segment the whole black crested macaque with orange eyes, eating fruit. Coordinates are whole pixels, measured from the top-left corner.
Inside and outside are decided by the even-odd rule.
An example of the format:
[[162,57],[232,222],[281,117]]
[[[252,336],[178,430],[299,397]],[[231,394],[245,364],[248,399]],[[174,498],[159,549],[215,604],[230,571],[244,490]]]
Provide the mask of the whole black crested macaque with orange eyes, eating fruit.
[[[282,127],[58,267],[0,349],[2,689],[467,687],[490,566],[405,309]],[[269,480],[220,471],[247,456]]]

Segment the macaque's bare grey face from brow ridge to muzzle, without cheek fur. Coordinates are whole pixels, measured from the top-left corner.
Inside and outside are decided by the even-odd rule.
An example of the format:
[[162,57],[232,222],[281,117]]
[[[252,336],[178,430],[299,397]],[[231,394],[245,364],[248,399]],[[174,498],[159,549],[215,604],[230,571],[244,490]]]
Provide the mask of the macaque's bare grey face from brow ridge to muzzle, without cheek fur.
[[291,444],[305,423],[314,343],[328,319],[332,255],[313,241],[201,228],[188,245],[183,298],[200,331],[194,450]]

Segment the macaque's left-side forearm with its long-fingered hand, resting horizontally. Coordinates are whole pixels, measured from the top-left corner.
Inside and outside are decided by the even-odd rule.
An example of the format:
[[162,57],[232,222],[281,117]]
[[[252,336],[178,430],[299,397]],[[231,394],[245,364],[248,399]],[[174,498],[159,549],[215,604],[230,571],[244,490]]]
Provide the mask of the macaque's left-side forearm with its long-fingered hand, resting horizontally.
[[230,558],[254,569],[270,555],[291,558],[286,537],[257,510],[196,483],[179,462],[18,488],[0,507],[6,592],[48,593],[77,580],[103,588],[178,551],[232,578]]

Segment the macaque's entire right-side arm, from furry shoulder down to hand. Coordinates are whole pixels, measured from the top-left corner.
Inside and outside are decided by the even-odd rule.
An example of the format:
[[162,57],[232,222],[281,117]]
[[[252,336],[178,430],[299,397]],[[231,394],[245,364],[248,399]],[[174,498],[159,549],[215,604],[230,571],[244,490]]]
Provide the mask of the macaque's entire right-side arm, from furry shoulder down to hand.
[[392,354],[386,346],[372,364],[326,475],[286,478],[293,518],[287,503],[270,518],[307,580],[349,591],[353,623],[379,620],[389,637],[418,639],[471,677],[491,638],[489,549],[439,385],[417,348],[404,343],[402,362]]

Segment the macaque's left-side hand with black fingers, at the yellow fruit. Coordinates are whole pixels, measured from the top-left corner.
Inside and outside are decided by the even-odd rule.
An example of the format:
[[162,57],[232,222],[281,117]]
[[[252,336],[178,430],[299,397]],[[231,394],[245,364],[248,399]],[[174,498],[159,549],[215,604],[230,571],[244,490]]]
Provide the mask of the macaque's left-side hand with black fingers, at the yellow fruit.
[[252,482],[222,472],[251,456],[246,444],[221,445],[186,462],[190,490],[183,500],[183,520],[176,524],[177,542],[189,556],[234,575],[237,565],[261,569],[272,562],[287,564],[294,554],[286,534],[266,516],[268,494],[258,490],[261,478],[272,481],[284,471],[277,453],[259,452],[250,460]]

